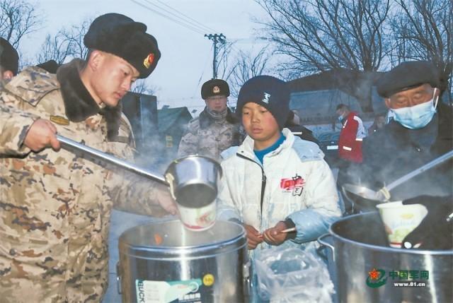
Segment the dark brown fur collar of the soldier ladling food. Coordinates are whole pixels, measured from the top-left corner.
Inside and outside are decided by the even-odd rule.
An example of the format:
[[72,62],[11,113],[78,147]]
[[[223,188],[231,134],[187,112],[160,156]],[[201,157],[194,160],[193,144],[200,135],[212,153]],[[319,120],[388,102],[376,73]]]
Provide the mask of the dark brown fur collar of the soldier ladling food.
[[102,114],[107,122],[108,139],[113,140],[120,127],[121,103],[116,107],[99,107],[81,81],[83,64],[83,60],[74,59],[57,70],[66,115],[70,121],[80,122],[95,114]]

